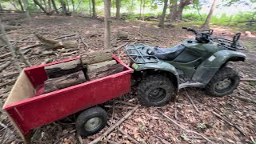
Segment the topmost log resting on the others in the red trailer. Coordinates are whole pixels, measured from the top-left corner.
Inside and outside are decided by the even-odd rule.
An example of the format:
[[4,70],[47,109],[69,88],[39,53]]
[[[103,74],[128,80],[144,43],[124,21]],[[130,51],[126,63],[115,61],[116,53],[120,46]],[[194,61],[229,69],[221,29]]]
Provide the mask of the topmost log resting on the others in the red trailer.
[[110,61],[112,59],[112,53],[110,50],[100,50],[93,53],[83,54],[82,64],[90,65],[98,62]]

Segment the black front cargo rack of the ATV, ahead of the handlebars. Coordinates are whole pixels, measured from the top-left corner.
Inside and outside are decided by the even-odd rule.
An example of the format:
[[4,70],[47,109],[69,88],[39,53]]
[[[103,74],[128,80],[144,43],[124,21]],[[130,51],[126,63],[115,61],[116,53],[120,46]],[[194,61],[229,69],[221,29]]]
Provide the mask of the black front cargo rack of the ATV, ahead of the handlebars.
[[229,50],[244,50],[245,47],[241,46],[238,42],[231,41],[226,38],[213,38],[214,42],[218,42],[218,46],[224,47]]

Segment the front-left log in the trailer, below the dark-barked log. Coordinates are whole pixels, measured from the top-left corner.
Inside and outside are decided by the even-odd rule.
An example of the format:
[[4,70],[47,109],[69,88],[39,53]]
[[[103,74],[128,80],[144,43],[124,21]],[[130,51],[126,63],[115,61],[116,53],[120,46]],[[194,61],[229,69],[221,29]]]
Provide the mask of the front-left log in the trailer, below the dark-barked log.
[[69,86],[78,85],[82,82],[86,82],[86,77],[82,71],[78,71],[73,74],[67,74],[59,78],[50,78],[47,79],[44,83],[45,93],[60,90]]

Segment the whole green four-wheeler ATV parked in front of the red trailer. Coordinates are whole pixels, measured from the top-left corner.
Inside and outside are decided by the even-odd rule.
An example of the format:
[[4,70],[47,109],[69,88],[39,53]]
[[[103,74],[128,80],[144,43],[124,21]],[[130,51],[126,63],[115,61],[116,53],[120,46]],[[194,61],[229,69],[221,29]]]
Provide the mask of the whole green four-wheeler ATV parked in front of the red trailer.
[[195,38],[170,48],[126,46],[143,106],[163,106],[185,87],[204,88],[206,94],[221,97],[238,86],[238,73],[226,64],[245,61],[246,54],[236,52],[245,49],[238,43],[241,34],[235,34],[231,41],[212,38],[213,30],[182,29],[194,32]]

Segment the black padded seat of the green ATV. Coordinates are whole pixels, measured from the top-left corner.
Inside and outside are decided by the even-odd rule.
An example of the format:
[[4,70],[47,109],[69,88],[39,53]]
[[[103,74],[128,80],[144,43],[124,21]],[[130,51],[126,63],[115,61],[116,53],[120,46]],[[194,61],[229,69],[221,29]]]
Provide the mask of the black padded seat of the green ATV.
[[159,59],[172,61],[174,58],[178,57],[182,51],[185,50],[185,46],[177,45],[170,48],[159,48],[154,47],[154,50],[147,50],[147,53],[150,55],[154,55]]

